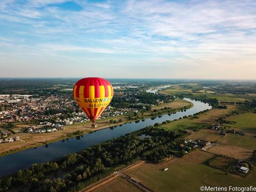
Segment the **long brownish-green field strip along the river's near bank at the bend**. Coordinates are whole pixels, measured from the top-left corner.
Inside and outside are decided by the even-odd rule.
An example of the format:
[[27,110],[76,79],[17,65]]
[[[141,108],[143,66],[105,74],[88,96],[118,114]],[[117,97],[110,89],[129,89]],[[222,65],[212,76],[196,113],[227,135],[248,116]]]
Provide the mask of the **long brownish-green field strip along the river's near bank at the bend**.
[[216,119],[229,114],[231,111],[238,109],[237,106],[228,106],[228,109],[211,109],[204,114],[198,115],[199,119],[181,119],[173,121],[170,124],[162,125],[166,129],[190,129],[197,130],[205,124],[213,124]]

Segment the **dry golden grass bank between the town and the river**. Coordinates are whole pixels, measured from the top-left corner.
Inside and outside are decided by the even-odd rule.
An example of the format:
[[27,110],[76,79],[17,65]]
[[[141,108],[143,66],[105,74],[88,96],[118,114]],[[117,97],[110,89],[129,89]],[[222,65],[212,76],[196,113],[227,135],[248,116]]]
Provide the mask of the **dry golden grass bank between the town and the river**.
[[[164,107],[171,107],[170,109],[164,109]],[[185,100],[175,99],[172,102],[161,104],[159,106],[152,107],[151,111],[145,112],[143,115],[139,112],[137,117],[132,117],[133,119],[130,120],[127,115],[115,116],[115,117],[108,117],[106,119],[101,119],[97,121],[97,128],[92,128],[90,122],[78,123],[74,125],[64,126],[63,130],[52,132],[52,133],[45,133],[45,134],[31,134],[31,133],[19,133],[15,134],[14,136],[19,136],[20,141],[17,142],[9,142],[1,144],[0,147],[0,156],[13,154],[18,151],[23,151],[27,149],[31,149],[34,147],[51,144],[52,142],[66,140],[68,138],[72,138],[79,135],[89,134],[90,132],[107,129],[109,127],[114,126],[121,126],[130,122],[140,121],[142,119],[148,119],[154,116],[165,115],[168,113],[174,113],[177,111],[190,109],[193,107],[191,102]],[[157,112],[154,112],[154,110]],[[153,115],[154,114],[154,115]],[[122,119],[122,122],[118,122],[118,120]],[[117,123],[111,123],[110,120],[116,120]],[[80,131],[79,134],[75,134],[77,131]]]

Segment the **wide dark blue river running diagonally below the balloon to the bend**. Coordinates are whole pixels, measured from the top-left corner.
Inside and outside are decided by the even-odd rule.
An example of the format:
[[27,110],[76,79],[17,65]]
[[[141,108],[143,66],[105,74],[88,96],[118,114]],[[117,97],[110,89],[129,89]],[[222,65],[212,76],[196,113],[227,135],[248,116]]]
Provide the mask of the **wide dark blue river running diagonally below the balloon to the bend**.
[[163,115],[156,119],[145,119],[145,121],[131,122],[113,128],[107,128],[86,134],[81,137],[65,139],[62,141],[52,142],[51,144],[39,146],[35,149],[27,149],[14,154],[0,157],[0,177],[17,172],[18,170],[26,169],[32,164],[43,163],[45,161],[54,160],[55,158],[63,157],[70,152],[81,151],[99,142],[104,142],[114,137],[128,134],[132,131],[140,130],[146,126],[154,125],[156,122],[166,120],[175,120],[180,117],[193,115],[197,112],[211,109],[209,104],[204,102],[185,99],[192,102],[193,107],[183,112],[176,114]]

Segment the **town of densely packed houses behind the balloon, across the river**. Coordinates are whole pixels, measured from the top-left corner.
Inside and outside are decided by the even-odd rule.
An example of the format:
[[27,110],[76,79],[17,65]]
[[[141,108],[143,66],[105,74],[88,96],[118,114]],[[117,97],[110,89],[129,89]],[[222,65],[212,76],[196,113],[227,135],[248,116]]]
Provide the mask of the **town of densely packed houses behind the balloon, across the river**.
[[[134,89],[137,90],[137,86],[117,86],[114,88],[122,90],[116,93],[116,97],[124,102],[130,102],[129,106],[108,106],[100,119],[138,112],[140,109],[150,106],[133,96],[132,92]],[[130,89],[132,92],[126,89]],[[157,102],[160,104],[163,101],[157,100]],[[17,132],[50,133],[62,130],[65,125],[86,121],[89,121],[88,117],[75,104],[70,93],[48,94],[46,96],[0,95],[0,131],[2,138],[0,143],[18,141],[18,137],[11,137],[12,134]],[[26,126],[22,126],[22,129],[12,130],[12,127],[18,124]]]

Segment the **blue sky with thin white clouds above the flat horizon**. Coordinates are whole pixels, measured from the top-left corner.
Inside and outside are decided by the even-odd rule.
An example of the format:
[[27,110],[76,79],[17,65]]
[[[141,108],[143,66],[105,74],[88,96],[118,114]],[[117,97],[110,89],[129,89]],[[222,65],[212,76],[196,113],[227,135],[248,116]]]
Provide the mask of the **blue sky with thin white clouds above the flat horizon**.
[[256,1],[0,1],[0,77],[256,79]]

